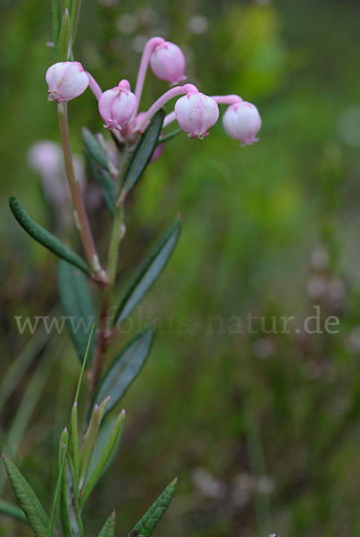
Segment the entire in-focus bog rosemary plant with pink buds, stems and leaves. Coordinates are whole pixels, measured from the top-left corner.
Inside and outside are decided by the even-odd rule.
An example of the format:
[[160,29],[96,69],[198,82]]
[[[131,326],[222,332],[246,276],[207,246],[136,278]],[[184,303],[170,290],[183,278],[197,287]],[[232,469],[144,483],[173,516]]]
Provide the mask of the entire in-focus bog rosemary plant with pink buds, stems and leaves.
[[[64,315],[95,321],[90,337],[86,330],[75,330],[71,324],[68,327],[80,358],[81,372],[69,425],[59,440],[58,479],[49,513],[6,456],[4,465],[22,511],[6,502],[1,503],[0,508],[19,520],[25,515],[37,537],[83,537],[83,507],[117,451],[125,418],[118,406],[147,361],[155,337],[155,322],[142,328],[122,348],[115,348],[115,337],[162,273],[180,235],[180,218],[174,217],[119,300],[116,292],[118,255],[126,231],[124,211],[128,195],[138,186],[147,166],[160,157],[163,143],[181,131],[188,132],[189,138],[203,140],[208,136],[209,129],[219,118],[219,105],[228,106],[222,119],[225,131],[242,146],[257,141],[261,118],[256,107],[238,95],[208,96],[191,83],[181,85],[180,82],[186,80],[185,57],[180,47],[158,37],[149,39],[144,47],[134,91],[125,79],[111,89],[101,90],[83,65],[74,61],[72,54],[80,0],[52,0],[52,4],[54,64],[46,71],[47,98],[57,105],[64,167],[83,252],[72,251],[39,226],[22,209],[14,194],[10,197],[10,208],[23,229],[59,258],[59,293]],[[147,110],[141,110],[149,65],[155,76],[170,82],[172,87]],[[113,217],[105,259],[100,259],[93,238],[95,223],[88,219],[74,166],[68,121],[68,102],[80,98],[88,88],[96,98],[98,114],[104,122],[103,132],[107,133],[107,136],[93,134],[86,128],[82,132],[88,168],[101,187],[105,208]],[[174,98],[177,98],[175,105],[166,114],[164,107]],[[164,133],[163,130],[175,121],[180,129]],[[100,303],[99,311],[95,303]],[[109,311],[114,314],[110,316]],[[110,348],[114,356],[111,361],[108,359]],[[83,379],[88,383],[88,408],[85,423],[80,423],[78,403]],[[110,419],[103,426],[109,414]],[[128,537],[148,537],[153,533],[170,504],[175,487],[176,479],[163,490]],[[112,537],[114,532],[115,513],[112,512],[98,535]]]

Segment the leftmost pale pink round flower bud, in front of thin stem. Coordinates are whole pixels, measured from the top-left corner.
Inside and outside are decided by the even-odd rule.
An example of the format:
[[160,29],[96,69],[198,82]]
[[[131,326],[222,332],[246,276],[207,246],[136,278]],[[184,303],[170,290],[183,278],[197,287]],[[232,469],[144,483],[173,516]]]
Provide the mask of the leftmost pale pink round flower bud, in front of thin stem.
[[48,100],[70,101],[88,88],[88,75],[79,62],[59,62],[46,71]]

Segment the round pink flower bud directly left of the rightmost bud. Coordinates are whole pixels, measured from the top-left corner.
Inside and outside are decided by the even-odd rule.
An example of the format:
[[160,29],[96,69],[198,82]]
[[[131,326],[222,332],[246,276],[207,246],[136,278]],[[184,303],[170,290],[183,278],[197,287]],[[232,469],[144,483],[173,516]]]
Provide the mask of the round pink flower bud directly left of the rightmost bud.
[[210,129],[218,120],[219,107],[213,98],[204,93],[191,92],[180,97],[175,104],[175,115],[183,131],[189,138],[208,136]]

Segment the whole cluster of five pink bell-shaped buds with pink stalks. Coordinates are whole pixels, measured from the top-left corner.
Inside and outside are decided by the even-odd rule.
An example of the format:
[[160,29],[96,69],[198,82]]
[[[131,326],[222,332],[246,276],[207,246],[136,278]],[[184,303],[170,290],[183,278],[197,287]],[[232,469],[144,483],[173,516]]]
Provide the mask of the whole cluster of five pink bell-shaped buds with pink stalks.
[[[171,83],[172,88],[158,98],[146,111],[138,113],[147,67],[155,75]],[[163,38],[147,41],[138,69],[135,92],[130,82],[122,80],[111,90],[102,91],[89,72],[79,62],[61,62],[51,65],[46,72],[49,100],[67,102],[79,97],[88,87],[98,100],[98,109],[105,128],[112,130],[121,141],[142,132],[153,115],[172,98],[178,98],[172,113],[166,115],[163,126],[177,120],[190,138],[203,139],[219,118],[218,105],[228,105],[222,117],[225,132],[241,142],[242,146],[258,141],[261,117],[255,105],[238,95],[207,96],[193,84],[175,85],[185,81],[185,57],[177,45]]]

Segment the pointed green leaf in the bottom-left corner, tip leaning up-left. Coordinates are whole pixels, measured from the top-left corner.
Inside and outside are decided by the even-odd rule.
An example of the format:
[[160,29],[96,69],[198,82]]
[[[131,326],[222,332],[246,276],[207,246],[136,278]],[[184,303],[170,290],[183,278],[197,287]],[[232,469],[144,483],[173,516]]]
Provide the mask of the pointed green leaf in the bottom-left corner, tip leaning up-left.
[[49,519],[44,507],[38,500],[34,490],[23,477],[18,468],[6,456],[3,456],[4,466],[12,483],[13,491],[19,500],[21,508],[29,520],[29,524],[37,537],[47,537],[49,530]]

